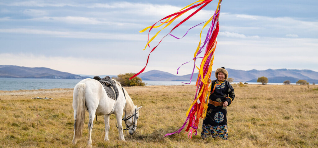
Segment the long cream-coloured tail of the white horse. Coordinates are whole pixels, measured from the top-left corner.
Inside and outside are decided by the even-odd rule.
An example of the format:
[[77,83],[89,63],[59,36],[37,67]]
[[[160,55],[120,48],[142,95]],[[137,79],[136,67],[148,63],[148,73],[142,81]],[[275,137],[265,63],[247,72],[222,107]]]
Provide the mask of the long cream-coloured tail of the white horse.
[[85,119],[85,88],[86,84],[81,83],[78,87],[77,95],[77,109],[76,109],[76,122],[74,130],[74,139],[79,139],[82,137],[84,119]]

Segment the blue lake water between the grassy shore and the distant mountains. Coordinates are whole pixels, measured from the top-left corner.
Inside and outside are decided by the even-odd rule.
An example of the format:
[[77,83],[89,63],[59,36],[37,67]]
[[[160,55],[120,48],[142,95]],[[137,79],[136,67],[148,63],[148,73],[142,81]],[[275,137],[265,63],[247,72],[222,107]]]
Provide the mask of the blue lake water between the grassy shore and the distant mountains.
[[[81,80],[78,79],[33,79],[33,78],[0,78],[0,90],[20,90],[20,89],[52,89],[52,88],[74,88]],[[151,85],[188,85],[182,82],[189,81],[143,81],[146,86]],[[196,81],[191,81],[190,85],[195,85]],[[239,82],[233,82],[239,83]],[[261,84],[250,82],[248,84]],[[271,85],[283,85],[283,83],[267,83]],[[291,83],[295,84],[295,83]]]

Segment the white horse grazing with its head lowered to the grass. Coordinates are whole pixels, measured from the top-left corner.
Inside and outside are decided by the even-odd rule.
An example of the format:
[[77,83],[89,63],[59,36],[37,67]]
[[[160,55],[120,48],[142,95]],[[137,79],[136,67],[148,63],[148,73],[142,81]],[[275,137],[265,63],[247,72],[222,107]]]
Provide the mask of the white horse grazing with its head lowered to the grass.
[[[137,128],[138,110],[142,108],[134,105],[127,91],[121,87],[117,81],[116,87],[119,91],[117,100],[110,98],[104,87],[99,81],[93,79],[84,79],[76,84],[73,91],[73,109],[74,109],[74,137],[73,144],[82,137],[84,126],[85,110],[89,113],[88,122],[88,141],[87,146],[92,146],[92,128],[95,115],[104,115],[105,120],[105,141],[108,141],[109,116],[115,114],[118,123],[119,139],[125,141],[121,117],[125,111],[123,120],[129,134],[133,134]],[[123,92],[124,91],[124,92]],[[125,105],[126,104],[126,105]]]

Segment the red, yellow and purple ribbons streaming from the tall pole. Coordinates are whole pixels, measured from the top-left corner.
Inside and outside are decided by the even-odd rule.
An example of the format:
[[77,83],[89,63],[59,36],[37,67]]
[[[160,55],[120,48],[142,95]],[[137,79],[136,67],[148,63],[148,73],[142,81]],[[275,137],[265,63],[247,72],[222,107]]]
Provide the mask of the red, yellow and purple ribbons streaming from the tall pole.
[[[173,21],[176,20],[176,18],[180,17],[181,15],[183,15],[185,12],[193,9],[193,8],[196,8],[198,6],[200,6],[199,8],[197,8],[197,10],[195,10],[193,13],[191,13],[188,17],[186,17],[185,19],[183,19],[181,22],[179,22],[176,26],[174,26],[171,31],[167,34],[167,35],[171,35],[173,36],[174,38],[176,39],[182,39],[185,35],[187,35],[187,33],[189,32],[190,29],[198,26],[198,25],[201,25],[203,23],[204,26],[200,32],[200,40],[199,40],[199,43],[198,43],[198,46],[197,46],[197,49],[194,53],[194,56],[193,56],[193,59],[194,60],[194,66],[193,66],[193,70],[192,70],[192,74],[191,74],[191,77],[190,77],[190,82],[191,82],[191,79],[192,79],[192,76],[193,76],[193,73],[194,73],[194,70],[195,70],[195,67],[196,66],[196,60],[198,58],[202,58],[202,62],[200,64],[199,67],[197,67],[197,69],[199,70],[199,74],[198,74],[198,77],[197,77],[197,82],[196,82],[196,86],[197,86],[197,90],[196,90],[196,95],[194,97],[194,100],[193,102],[191,103],[190,105],[190,108],[188,109],[187,113],[186,113],[186,121],[183,123],[183,126],[173,132],[173,133],[169,133],[169,134],[166,134],[166,136],[169,136],[169,135],[172,135],[172,134],[175,134],[175,133],[180,133],[186,126],[186,124],[188,123],[188,126],[186,127],[185,131],[188,132],[189,131],[189,134],[188,134],[188,138],[192,138],[192,135],[193,133],[195,133],[195,135],[197,135],[197,129],[198,129],[198,124],[199,124],[199,120],[200,119],[204,119],[204,117],[206,116],[206,110],[208,108],[208,99],[209,99],[209,96],[210,96],[210,91],[211,91],[211,84],[207,83],[208,79],[211,77],[211,72],[212,72],[212,65],[213,65],[213,60],[214,60],[214,52],[215,52],[215,48],[216,48],[216,44],[217,44],[217,36],[218,36],[218,32],[219,32],[219,24],[218,24],[218,17],[219,17],[219,14],[220,14],[220,5],[221,5],[221,2],[222,0],[219,0],[218,2],[218,6],[217,6],[217,9],[215,10],[213,16],[207,20],[206,22],[203,22],[203,23],[200,23],[198,25],[195,25],[193,27],[191,27],[184,35],[183,37],[181,38],[178,38],[172,34],[170,34],[174,29],[176,29],[178,26],[182,25],[185,21],[187,21],[189,18],[191,18],[194,14],[196,14],[198,11],[200,11],[202,8],[204,8],[207,4],[209,4],[211,1],[213,0],[198,0],[186,7],[184,7],[183,9],[181,9],[180,11],[176,12],[176,13],[173,13],[169,16],[166,16],[164,18],[162,18],[161,20],[159,20],[158,22],[156,22],[155,24],[153,24],[152,26],[149,26],[149,27],[146,27],[145,29],[143,29],[142,31],[140,32],[144,32],[146,30],[149,29],[149,32],[148,32],[148,41],[147,41],[147,44],[145,46],[145,48],[143,50],[145,50],[147,48],[147,46],[150,47],[149,43],[152,42],[156,36],[164,29],[166,28],[167,26],[169,26]],[[196,4],[198,3],[198,4]],[[202,6],[201,6],[202,5]],[[160,25],[157,25],[157,23],[161,23]],[[163,24],[166,24],[160,31],[158,31],[152,38],[149,39],[149,33],[150,31],[152,30],[152,28],[158,28],[158,27],[161,27]],[[207,35],[204,39],[204,42],[201,43],[201,35],[202,35],[202,32],[203,32],[203,29],[210,24],[210,27],[208,29],[208,32],[207,32]],[[161,41],[167,36],[165,35],[160,41],[159,43],[154,47],[152,48],[152,50],[150,51],[150,53],[152,53],[156,47],[161,43]],[[203,46],[201,46],[201,44],[203,44]],[[198,55],[200,53],[202,53],[203,49],[205,48],[205,52],[204,52],[204,56],[203,57],[198,57]],[[135,74],[134,76],[132,76],[130,79],[134,78],[135,76],[141,74],[145,68],[147,67],[147,64],[148,64],[148,61],[149,61],[149,56],[150,56],[150,53],[148,55],[148,58],[147,58],[147,63],[146,63],[146,66],[140,71],[138,72],[137,74]],[[190,60],[191,61],[191,60]],[[189,61],[189,62],[190,62]],[[182,65],[184,64],[187,64],[189,62],[186,62],[186,63],[183,63]],[[181,65],[181,66],[182,66]],[[181,67],[180,66],[180,67]],[[180,68],[179,67],[179,68]],[[178,74],[178,70],[179,68],[177,69],[177,74]],[[190,83],[186,83],[186,84],[190,84]]]

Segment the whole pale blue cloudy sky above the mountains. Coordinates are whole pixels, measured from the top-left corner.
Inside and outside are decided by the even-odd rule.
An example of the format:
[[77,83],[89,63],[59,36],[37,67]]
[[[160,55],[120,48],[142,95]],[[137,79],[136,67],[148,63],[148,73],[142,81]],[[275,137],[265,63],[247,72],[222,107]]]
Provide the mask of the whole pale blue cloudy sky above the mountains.
[[[139,31],[193,2],[2,0],[0,65],[88,75],[137,73],[146,65],[151,49],[185,17],[164,29],[144,51],[148,31]],[[212,1],[171,34],[182,37],[192,26],[208,20],[217,4]],[[317,6],[317,0],[223,0],[212,70],[318,71]],[[202,26],[191,29],[183,39],[163,39],[151,53],[145,72],[156,69],[176,74],[180,65],[193,58]],[[178,75],[190,74],[193,64],[183,65]]]

